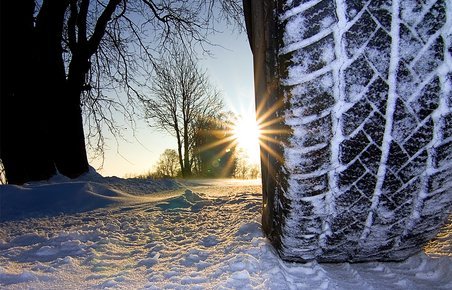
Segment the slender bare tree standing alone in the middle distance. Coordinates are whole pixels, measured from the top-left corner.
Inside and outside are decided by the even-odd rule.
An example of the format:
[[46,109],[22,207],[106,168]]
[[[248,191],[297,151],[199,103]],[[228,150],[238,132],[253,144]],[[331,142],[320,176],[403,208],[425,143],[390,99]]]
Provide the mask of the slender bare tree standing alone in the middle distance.
[[173,51],[156,65],[151,93],[143,99],[146,117],[152,127],[176,137],[182,176],[190,176],[195,123],[222,110],[220,94],[184,50]]

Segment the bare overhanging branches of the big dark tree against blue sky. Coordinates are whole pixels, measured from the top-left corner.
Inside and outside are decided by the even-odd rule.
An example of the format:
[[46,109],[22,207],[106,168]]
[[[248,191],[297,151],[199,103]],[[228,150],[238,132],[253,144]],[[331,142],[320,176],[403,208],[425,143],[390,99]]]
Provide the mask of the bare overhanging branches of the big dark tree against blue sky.
[[[97,49],[86,58],[89,71],[83,74],[85,81],[81,86],[87,145],[102,157],[103,133],[109,131],[121,137],[122,130],[113,117],[116,112],[134,127],[137,101],[148,93],[150,76],[162,54],[174,47],[189,54],[201,47],[201,51],[209,53],[207,39],[217,32],[215,23],[219,19],[242,28],[240,0],[109,0],[108,5],[102,1],[70,2],[64,51],[71,63],[77,63],[74,57],[78,51],[86,50],[86,41],[78,34],[86,33],[90,40],[96,30],[101,35],[101,28],[104,29],[96,42]],[[83,9],[83,5],[89,5],[89,9]],[[115,10],[105,21],[104,15],[111,12],[107,8],[113,6]]]

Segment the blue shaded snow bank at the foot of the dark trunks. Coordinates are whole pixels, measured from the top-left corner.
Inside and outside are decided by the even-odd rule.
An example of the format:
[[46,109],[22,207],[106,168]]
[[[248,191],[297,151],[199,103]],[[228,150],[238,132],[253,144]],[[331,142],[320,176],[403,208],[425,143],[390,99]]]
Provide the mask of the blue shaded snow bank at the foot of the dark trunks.
[[0,222],[133,203],[138,197],[180,186],[175,180],[102,177],[93,168],[77,179],[57,174],[46,181],[0,186]]

